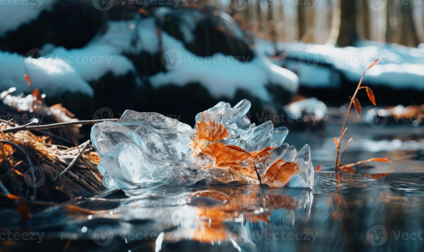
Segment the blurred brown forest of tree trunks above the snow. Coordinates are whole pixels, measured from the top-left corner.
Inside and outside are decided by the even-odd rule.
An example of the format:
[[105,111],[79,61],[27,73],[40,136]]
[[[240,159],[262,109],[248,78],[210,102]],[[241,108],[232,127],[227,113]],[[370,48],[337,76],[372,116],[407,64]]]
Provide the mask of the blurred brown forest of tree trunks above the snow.
[[199,0],[250,21],[273,41],[351,46],[358,39],[416,47],[424,42],[422,0]]

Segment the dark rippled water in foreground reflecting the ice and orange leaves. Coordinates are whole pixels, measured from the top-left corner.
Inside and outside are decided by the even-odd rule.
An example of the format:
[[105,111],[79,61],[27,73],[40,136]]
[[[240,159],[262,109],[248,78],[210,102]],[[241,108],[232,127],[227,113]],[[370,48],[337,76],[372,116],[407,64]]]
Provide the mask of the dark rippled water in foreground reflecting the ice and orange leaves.
[[[35,215],[25,229],[9,211],[8,230],[39,232],[44,237],[39,244],[8,241],[7,247],[390,251],[424,246],[423,173],[315,176],[314,191],[258,185],[114,191],[77,200],[85,208],[107,209],[96,215],[70,215],[51,208]],[[384,243],[374,246],[378,242]]]

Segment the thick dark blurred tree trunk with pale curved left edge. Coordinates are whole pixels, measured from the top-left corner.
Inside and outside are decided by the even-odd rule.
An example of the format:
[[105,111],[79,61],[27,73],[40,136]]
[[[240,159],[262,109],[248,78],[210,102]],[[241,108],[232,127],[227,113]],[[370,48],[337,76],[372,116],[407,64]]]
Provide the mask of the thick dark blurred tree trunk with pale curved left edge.
[[337,44],[341,47],[351,46],[358,40],[356,25],[356,1],[341,0],[340,32]]

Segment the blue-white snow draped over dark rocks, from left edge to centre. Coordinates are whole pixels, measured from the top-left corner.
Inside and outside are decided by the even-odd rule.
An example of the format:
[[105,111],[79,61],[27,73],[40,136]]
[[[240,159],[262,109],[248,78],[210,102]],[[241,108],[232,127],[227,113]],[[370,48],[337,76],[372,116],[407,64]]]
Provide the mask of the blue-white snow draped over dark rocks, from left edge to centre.
[[[192,17],[198,18],[195,15]],[[185,37],[189,40],[188,34],[192,33],[192,28],[187,27],[186,30]],[[46,44],[42,50],[44,55],[37,59],[25,58],[26,64],[20,55],[0,52],[0,74],[3,77],[0,89],[16,87],[19,92],[29,92],[30,88],[23,78],[24,66],[27,66],[33,86],[49,97],[64,91],[81,91],[92,95],[89,82],[98,80],[107,72],[115,76],[135,72],[134,65],[125,54],[137,55],[142,51],[151,54],[164,52],[162,64],[167,72],[159,72],[149,79],[156,88],[168,84],[185,86],[188,83],[200,83],[217,99],[232,98],[237,89],[244,89],[263,101],[271,101],[265,88],[267,84],[280,85],[291,93],[295,93],[299,85],[296,74],[274,65],[258,50],[254,51],[255,57],[250,61],[248,58],[222,53],[201,57],[187,50],[183,42],[166,32],[162,31],[159,41],[155,20],[148,17],[110,21],[105,33],[98,34],[86,47],[80,49],[67,50]]]

